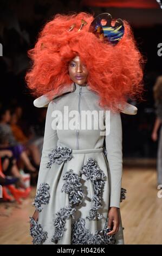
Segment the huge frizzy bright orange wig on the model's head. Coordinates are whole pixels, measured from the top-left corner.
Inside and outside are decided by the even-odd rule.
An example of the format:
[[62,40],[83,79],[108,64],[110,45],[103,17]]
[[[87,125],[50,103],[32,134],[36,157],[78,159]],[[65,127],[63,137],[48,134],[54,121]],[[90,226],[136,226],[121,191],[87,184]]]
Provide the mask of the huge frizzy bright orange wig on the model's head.
[[[87,22],[81,31],[81,19]],[[70,86],[68,64],[79,55],[87,65],[87,83],[100,96],[100,105],[114,109],[127,98],[141,98],[144,60],[135,44],[132,30],[124,21],[125,33],[117,45],[99,40],[88,32],[93,15],[56,14],[42,29],[33,49],[33,60],[26,81],[34,95],[40,96]],[[75,23],[72,31],[69,28]]]

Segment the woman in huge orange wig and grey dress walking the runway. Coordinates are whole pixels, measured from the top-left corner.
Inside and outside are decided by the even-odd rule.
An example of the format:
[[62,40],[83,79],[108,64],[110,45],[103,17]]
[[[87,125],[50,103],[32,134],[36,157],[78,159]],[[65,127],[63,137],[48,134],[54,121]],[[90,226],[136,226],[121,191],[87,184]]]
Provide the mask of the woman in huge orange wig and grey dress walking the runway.
[[135,114],[126,101],[142,92],[131,28],[107,13],[57,14],[29,56],[34,105],[48,107],[33,243],[123,244],[120,112]]

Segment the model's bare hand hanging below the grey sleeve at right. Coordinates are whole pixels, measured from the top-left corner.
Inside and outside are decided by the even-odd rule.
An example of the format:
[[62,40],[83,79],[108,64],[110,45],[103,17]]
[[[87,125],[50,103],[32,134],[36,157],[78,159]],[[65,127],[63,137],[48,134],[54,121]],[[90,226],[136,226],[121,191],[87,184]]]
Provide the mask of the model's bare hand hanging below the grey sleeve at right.
[[119,209],[117,207],[111,207],[108,212],[108,228],[112,228],[111,231],[107,233],[107,235],[114,235],[119,230]]

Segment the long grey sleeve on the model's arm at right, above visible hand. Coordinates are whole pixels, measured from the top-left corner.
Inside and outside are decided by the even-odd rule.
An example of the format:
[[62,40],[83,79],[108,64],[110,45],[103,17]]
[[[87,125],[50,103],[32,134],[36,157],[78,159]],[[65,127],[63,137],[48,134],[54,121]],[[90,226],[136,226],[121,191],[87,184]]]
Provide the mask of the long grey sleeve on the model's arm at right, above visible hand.
[[120,113],[109,112],[105,117],[106,150],[109,165],[110,207],[120,208],[122,177],[122,125]]

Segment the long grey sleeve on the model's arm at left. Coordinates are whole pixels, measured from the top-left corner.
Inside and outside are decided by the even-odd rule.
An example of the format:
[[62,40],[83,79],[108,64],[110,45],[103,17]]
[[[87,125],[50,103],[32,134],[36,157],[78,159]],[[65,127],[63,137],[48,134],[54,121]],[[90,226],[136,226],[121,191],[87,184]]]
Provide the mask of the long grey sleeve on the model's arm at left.
[[48,105],[47,114],[46,114],[44,141],[43,141],[40,170],[38,174],[37,188],[40,185],[40,183],[43,183],[45,181],[46,175],[49,170],[49,168],[47,168],[47,163],[49,161],[48,154],[51,153],[51,151],[57,146],[57,141],[58,141],[57,130],[56,130],[56,127],[52,127],[53,118],[51,117],[51,114],[54,110],[53,108],[54,108],[54,102],[51,101]]

